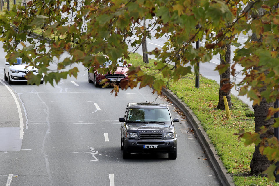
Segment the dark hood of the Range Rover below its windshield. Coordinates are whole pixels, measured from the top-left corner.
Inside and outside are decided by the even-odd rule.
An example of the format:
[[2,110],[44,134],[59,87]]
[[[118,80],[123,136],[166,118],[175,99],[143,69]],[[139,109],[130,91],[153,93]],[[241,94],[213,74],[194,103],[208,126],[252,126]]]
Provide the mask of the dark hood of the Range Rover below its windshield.
[[127,131],[128,132],[161,132],[161,133],[170,133],[174,132],[174,125],[172,124],[127,124]]

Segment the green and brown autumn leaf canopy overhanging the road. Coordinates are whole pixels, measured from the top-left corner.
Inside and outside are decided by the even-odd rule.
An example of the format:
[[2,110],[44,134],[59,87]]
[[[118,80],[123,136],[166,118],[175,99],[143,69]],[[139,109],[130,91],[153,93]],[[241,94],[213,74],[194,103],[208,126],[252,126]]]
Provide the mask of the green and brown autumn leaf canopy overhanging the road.
[[[240,47],[238,36],[253,32],[258,41],[251,42],[252,36],[249,36],[245,46],[235,50],[231,74],[236,75],[235,65],[244,67],[245,78],[238,85],[239,94],[246,94],[254,104],[259,104],[262,98],[274,102],[279,98],[277,3],[277,0],[31,0],[26,7],[14,5],[0,16],[0,40],[4,42],[6,60],[10,64],[21,57],[23,62],[39,69],[37,77],[28,74],[29,83],[39,84],[44,73],[45,82],[53,85],[53,80],[58,83],[68,75],[77,76],[76,67],[65,69],[71,64],[80,62],[87,68],[93,67],[91,72],[98,69],[108,60],[103,55],[113,63],[102,70],[113,72],[118,58],[126,61],[129,53],[134,52],[128,51],[128,46],[138,47],[146,37],[151,38],[151,30],[156,31],[154,37],[157,39],[168,38],[162,49],[156,48],[150,53],[158,59],[156,69],[174,81],[191,73],[190,66],[197,62],[208,62],[212,55],[224,54],[222,46]],[[259,10],[263,14],[258,14]],[[143,19],[147,20],[148,29],[142,26]],[[51,40],[28,37],[35,31]],[[133,37],[136,39],[132,40]],[[192,42],[202,38],[205,46],[195,49]],[[171,69],[167,62],[176,62],[176,68]],[[56,63],[56,70],[48,68],[52,63]],[[227,65],[218,65],[216,70],[221,74]],[[131,67],[129,81],[121,83],[120,87],[133,88],[138,83],[140,87],[153,87],[159,94],[165,87],[162,80],[144,74],[140,67]],[[230,82],[223,87],[229,90],[233,85]],[[264,86],[266,90],[259,91]],[[117,85],[114,91],[116,96]],[[268,117],[276,111],[278,109],[270,108]],[[274,126],[279,126],[279,121]],[[278,157],[276,154],[271,160],[278,160]]]

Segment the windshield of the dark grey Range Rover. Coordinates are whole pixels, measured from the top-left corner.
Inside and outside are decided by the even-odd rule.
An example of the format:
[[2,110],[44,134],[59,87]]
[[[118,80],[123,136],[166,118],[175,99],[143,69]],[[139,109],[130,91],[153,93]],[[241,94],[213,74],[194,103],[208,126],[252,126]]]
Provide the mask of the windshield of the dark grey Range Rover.
[[[169,123],[171,117],[167,108],[131,108],[128,122],[153,122]],[[155,122],[154,122],[155,123]]]

